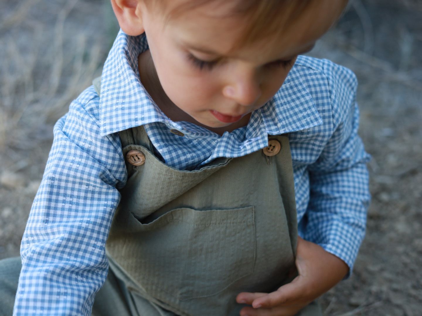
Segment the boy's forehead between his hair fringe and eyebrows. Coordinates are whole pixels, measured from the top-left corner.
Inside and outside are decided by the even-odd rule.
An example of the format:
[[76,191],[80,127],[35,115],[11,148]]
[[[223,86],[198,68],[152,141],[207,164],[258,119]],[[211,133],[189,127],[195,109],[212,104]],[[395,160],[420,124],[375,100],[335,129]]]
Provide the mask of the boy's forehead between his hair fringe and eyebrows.
[[[186,3],[186,0],[172,0],[172,6]],[[265,58],[289,58],[307,51],[327,29],[338,19],[346,1],[317,0],[309,4],[294,19],[285,23],[286,17],[279,16],[271,21],[276,32],[265,34],[247,45],[238,46],[244,29],[249,27],[247,16],[230,15],[230,1],[221,5],[211,1],[206,5],[182,13],[177,19],[169,21],[173,36],[183,46],[199,51],[209,51],[219,56],[241,54],[245,59],[265,52]],[[220,4],[220,5],[217,5]],[[292,14],[292,12],[290,12]],[[236,49],[233,49],[235,47]]]

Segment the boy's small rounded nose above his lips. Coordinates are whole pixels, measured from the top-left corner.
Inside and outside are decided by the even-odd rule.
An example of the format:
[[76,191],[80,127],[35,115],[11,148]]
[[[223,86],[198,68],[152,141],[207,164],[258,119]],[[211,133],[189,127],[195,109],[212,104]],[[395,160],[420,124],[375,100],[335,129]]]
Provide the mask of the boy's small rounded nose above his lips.
[[242,75],[223,88],[223,95],[238,104],[249,106],[261,96],[260,83],[254,75]]

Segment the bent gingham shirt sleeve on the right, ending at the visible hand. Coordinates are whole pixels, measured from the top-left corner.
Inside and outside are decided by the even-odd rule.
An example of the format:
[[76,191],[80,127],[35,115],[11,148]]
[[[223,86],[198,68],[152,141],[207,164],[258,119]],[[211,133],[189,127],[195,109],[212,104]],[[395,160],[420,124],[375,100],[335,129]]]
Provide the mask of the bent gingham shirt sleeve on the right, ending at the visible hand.
[[370,156],[357,134],[357,80],[350,70],[330,66],[333,134],[308,166],[310,196],[303,237],[346,262],[351,272],[365,236]]

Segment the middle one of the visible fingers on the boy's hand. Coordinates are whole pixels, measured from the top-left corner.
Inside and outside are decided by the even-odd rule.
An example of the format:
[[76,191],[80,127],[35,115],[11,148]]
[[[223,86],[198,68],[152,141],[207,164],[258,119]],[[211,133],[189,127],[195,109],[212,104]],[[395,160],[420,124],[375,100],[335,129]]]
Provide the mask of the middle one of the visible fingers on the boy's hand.
[[300,276],[292,282],[280,287],[275,292],[257,297],[252,301],[254,308],[271,308],[280,304],[286,304],[293,301],[300,301],[306,297],[306,283],[301,281]]

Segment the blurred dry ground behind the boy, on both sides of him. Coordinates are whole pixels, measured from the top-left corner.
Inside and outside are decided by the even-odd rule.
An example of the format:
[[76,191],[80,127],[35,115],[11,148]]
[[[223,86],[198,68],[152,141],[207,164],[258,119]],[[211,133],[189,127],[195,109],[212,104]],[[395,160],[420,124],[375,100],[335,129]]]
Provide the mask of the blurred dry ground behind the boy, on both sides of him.
[[[101,73],[117,23],[107,0],[0,1],[0,259],[19,255],[54,123]],[[354,273],[325,315],[422,308],[422,1],[352,0],[310,53],[359,80],[373,201]]]

